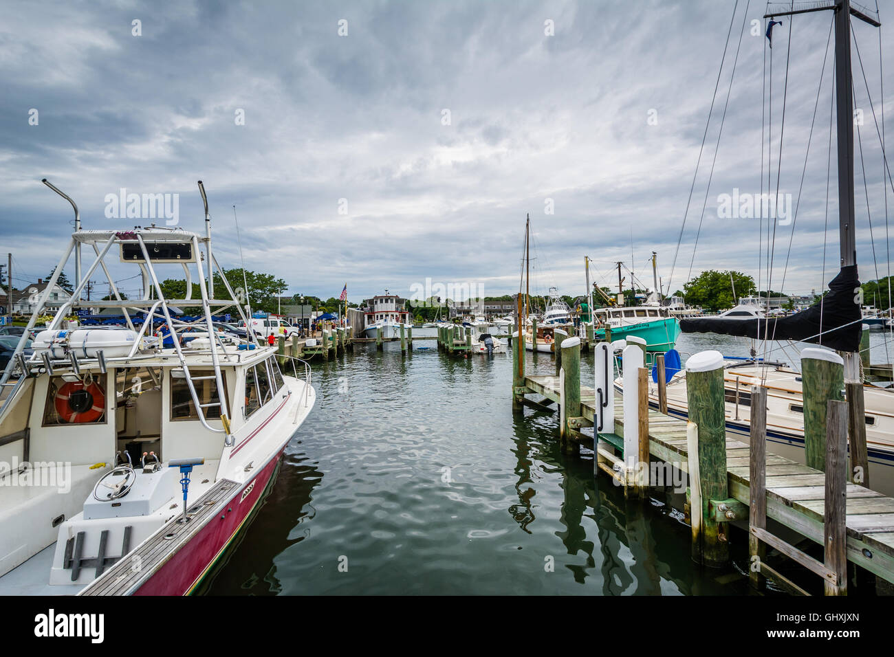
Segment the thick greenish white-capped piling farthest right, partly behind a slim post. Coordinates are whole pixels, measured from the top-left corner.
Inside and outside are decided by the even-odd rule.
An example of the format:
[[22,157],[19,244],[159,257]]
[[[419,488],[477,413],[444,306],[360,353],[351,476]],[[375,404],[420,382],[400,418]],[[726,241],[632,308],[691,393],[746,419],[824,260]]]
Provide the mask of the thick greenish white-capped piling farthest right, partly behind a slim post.
[[844,400],[844,360],[832,351],[808,347],[801,351],[801,378],[805,463],[825,472],[826,413],[829,400]]

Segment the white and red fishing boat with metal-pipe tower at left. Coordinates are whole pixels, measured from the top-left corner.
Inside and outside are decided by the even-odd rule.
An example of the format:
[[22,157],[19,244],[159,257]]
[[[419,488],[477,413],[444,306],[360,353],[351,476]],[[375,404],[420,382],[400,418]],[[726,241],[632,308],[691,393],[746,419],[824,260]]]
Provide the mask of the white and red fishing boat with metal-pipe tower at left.
[[[198,185],[204,237],[156,225],[80,230],[77,206],[56,190],[75,208],[76,231],[0,380],[0,594],[200,590],[313,408],[307,363],[277,360],[250,332],[215,330],[215,315],[247,316],[212,253]],[[83,248],[96,257],[81,275]],[[50,301],[72,254],[72,298]],[[142,298],[117,289],[112,259],[139,269]],[[81,299],[99,270],[114,300]],[[185,275],[185,298],[164,296],[159,281],[171,275]],[[190,320],[175,306],[201,312]],[[120,312],[122,325],[63,326],[88,307]],[[38,316],[54,308],[26,355]]]

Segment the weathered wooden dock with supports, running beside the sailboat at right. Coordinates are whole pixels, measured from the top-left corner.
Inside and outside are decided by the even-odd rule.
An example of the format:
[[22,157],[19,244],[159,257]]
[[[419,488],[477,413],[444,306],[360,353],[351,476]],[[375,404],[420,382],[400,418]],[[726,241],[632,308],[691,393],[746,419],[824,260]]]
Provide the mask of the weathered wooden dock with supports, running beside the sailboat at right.
[[[519,366],[520,358],[519,360],[513,358],[513,407],[517,410],[523,406],[543,410],[548,409],[552,403],[558,404],[561,411],[560,433],[563,449],[568,452],[578,451],[579,445],[594,449],[595,470],[612,476],[620,484],[625,485],[625,490],[632,481],[629,474],[625,473],[625,464],[629,464],[631,458],[637,459],[637,457],[640,464],[645,462],[646,472],[650,467],[671,464],[672,467],[687,473],[690,487],[695,485],[696,479],[699,477],[704,482],[704,473],[696,474],[696,477],[693,477],[691,472],[693,467],[696,472],[699,467],[703,469],[711,467],[711,463],[704,458],[706,448],[697,442],[695,459],[693,454],[690,454],[694,429],[697,430],[696,425],[679,418],[669,417],[658,410],[649,409],[647,401],[645,404],[642,403],[645,400],[645,395],[642,395],[644,399],[640,400],[638,405],[641,415],[636,418],[636,424],[626,426],[631,423],[629,418],[627,422],[625,421],[624,400],[615,399],[612,401],[614,425],[611,433],[601,433],[594,429],[594,434],[599,438],[594,444],[592,435],[580,431],[581,428],[592,427],[594,423],[598,424],[600,421],[600,415],[597,412],[599,401],[597,401],[595,389],[580,386],[579,383],[578,399],[574,399],[573,391],[569,391],[568,377],[571,375],[573,381],[575,376],[574,373],[569,373],[568,369],[579,368],[579,360],[575,359],[573,350],[566,353],[566,344],[567,342],[562,345],[563,364],[560,375],[527,375],[524,373],[524,366]],[[518,351],[518,346],[519,344],[516,343],[513,351]],[[597,346],[597,354],[600,346]],[[579,350],[579,345],[575,344],[573,347]],[[645,368],[640,369],[640,373],[645,381]],[[613,382],[613,375],[609,378]],[[579,372],[577,380],[579,381]],[[627,390],[628,387],[625,383],[625,391]],[[601,392],[599,391],[600,394]],[[722,395],[722,387],[720,392]],[[525,397],[528,393],[541,395],[544,400],[529,400]],[[840,404],[845,409],[845,417],[847,416],[845,402],[831,401],[830,404]],[[722,396],[720,408],[723,408]],[[832,406],[830,406],[831,408]],[[829,422],[831,424],[831,417]],[[723,425],[721,424],[721,426]],[[632,431],[627,441],[625,441],[626,431]],[[829,475],[821,469],[807,467],[777,454],[764,454],[765,445],[762,440],[760,442],[764,449],[755,451],[757,458],[762,462],[755,464],[755,453],[748,444],[726,437],[725,429],[721,436],[721,440],[725,439],[722,449],[724,452],[722,457],[725,458],[715,460],[722,462],[725,481],[722,481],[721,484],[724,485],[720,489],[714,489],[715,494],[705,493],[707,499],[704,500],[704,507],[698,500],[693,500],[691,505],[692,512],[699,517],[698,523],[702,525],[694,527],[694,558],[696,558],[696,532],[704,533],[704,525],[713,525],[715,532],[719,527],[718,543],[727,543],[729,539],[726,527],[728,523],[732,522],[744,524],[746,530],[749,531],[749,539],[753,543],[751,550],[753,555],[758,554],[763,557],[763,543],[776,548],[782,554],[797,560],[805,568],[811,569],[823,577],[826,581],[827,593],[830,593],[830,587],[833,594],[847,592],[846,561],[856,564],[887,582],[894,583],[894,499],[863,485],[851,483],[850,480],[853,479],[853,476],[847,476],[847,465],[844,463],[846,458],[841,459],[840,467],[826,466],[826,469],[832,473]],[[633,438],[635,444],[638,440],[639,447],[636,451],[639,453],[637,457],[631,457],[628,454],[625,458],[625,443],[628,450],[630,449],[629,438]],[[847,441],[844,439],[841,442],[846,444]],[[844,449],[843,454],[846,456],[847,447],[845,446]],[[701,466],[698,465],[699,455],[702,460]],[[755,473],[756,476],[753,479]],[[835,477],[839,477],[840,485],[838,488],[833,487],[831,489],[833,494],[827,497],[827,486]],[[761,485],[762,479],[763,486]],[[757,482],[755,491],[752,491],[753,480]],[[651,480],[640,483],[643,485],[643,490],[647,491]],[[705,484],[700,485],[700,490],[704,492]],[[631,488],[635,487],[631,486]],[[764,509],[761,509],[761,504],[757,501],[760,497],[757,491],[762,487],[765,496]],[[689,489],[687,489],[687,501],[688,491]],[[717,491],[721,491],[721,493],[717,495]],[[840,491],[840,494],[835,493],[836,491]],[[839,497],[840,500],[837,500]],[[755,520],[754,517],[749,518],[751,505],[755,506],[755,511],[763,511],[765,514],[763,521]],[[687,508],[689,508],[688,503]],[[698,513],[698,509],[704,509],[706,513],[704,515]],[[839,513],[843,522],[834,523],[834,517]],[[827,522],[830,517],[832,520]],[[840,563],[836,565],[833,555],[830,556],[831,551],[828,547],[826,547],[826,562],[823,563],[822,560],[809,557],[794,546],[784,543],[766,531],[765,518],[771,518],[797,535],[810,539],[821,546],[835,543],[830,539],[830,532],[835,530],[831,524],[837,524],[840,543],[845,545],[844,549],[840,551]],[[699,540],[704,541],[705,539],[702,537]],[[725,549],[728,559],[729,546],[721,544],[720,547]],[[756,557],[753,556],[752,559],[755,560]],[[703,562],[708,564],[707,559],[703,559]],[[720,564],[710,563],[708,565]],[[792,593],[805,593],[803,589],[794,585],[786,577],[782,577],[765,563],[760,563],[758,571],[762,577],[772,578]],[[752,579],[753,581],[756,579],[754,574],[752,574]]]

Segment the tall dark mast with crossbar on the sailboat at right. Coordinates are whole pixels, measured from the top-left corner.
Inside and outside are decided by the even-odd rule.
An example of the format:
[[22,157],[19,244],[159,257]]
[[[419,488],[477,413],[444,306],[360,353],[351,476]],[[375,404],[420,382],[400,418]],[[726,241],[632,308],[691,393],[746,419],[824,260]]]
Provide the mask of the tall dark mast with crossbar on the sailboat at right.
[[[856,239],[854,227],[854,101],[853,77],[850,68],[850,17],[855,16],[873,27],[881,23],[851,5],[850,0],[835,0],[827,5],[809,6],[788,12],[767,13],[763,18],[774,19],[796,13],[813,13],[831,10],[835,12],[835,114],[838,145],[839,188],[839,242],[840,266],[856,265]],[[882,99],[883,101],[883,99]],[[841,352],[844,358],[845,378],[860,378],[859,359],[856,351]]]

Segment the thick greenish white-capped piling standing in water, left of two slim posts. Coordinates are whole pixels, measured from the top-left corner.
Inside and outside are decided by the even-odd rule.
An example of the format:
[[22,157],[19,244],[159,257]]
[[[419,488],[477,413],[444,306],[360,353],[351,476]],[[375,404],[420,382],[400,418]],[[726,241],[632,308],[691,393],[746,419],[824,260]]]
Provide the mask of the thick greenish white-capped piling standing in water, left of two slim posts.
[[687,360],[686,371],[689,420],[698,426],[698,470],[702,494],[701,536],[697,537],[701,540],[693,545],[693,558],[705,566],[721,568],[730,560],[730,545],[727,543],[725,523],[711,517],[709,502],[729,498],[723,356],[719,351],[701,351]]

